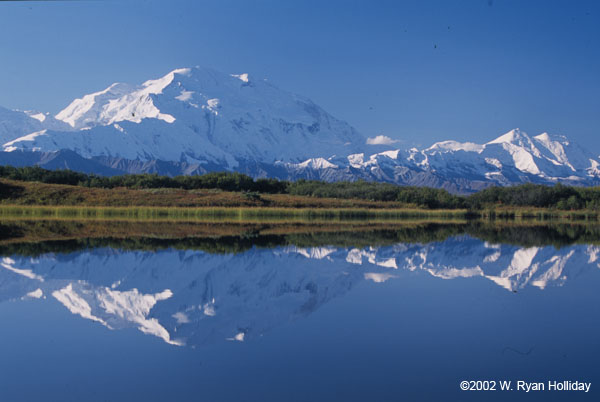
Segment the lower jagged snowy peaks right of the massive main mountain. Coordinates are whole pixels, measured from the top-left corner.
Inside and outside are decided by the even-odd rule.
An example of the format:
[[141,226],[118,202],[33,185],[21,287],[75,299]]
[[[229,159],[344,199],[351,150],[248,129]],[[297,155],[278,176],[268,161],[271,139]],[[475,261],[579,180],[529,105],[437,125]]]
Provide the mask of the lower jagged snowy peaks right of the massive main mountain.
[[443,141],[426,149],[282,163],[289,178],[385,181],[472,192],[519,183],[600,184],[600,158],[564,136],[519,129],[485,144]]

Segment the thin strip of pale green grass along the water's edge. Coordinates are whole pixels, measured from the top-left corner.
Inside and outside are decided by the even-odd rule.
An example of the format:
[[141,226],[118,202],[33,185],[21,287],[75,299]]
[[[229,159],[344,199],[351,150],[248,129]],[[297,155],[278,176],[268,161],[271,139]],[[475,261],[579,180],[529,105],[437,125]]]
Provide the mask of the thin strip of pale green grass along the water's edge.
[[497,207],[483,210],[420,208],[315,208],[265,206],[88,206],[0,204],[0,219],[156,220],[207,222],[393,221],[407,219],[485,221],[590,221],[599,222],[593,210],[562,211],[544,208]]

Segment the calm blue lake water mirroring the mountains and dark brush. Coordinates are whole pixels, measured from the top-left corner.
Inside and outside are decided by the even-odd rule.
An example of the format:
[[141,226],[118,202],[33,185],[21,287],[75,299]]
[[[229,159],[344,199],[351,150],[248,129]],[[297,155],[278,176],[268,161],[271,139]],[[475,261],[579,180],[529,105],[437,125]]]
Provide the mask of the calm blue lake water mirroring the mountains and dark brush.
[[438,232],[13,242],[0,400],[600,400],[598,242]]

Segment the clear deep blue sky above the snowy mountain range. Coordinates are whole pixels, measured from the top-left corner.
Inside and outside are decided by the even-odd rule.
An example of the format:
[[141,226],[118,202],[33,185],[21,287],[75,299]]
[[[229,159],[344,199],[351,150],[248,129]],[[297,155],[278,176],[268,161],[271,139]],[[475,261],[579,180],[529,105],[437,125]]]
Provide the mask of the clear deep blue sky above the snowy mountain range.
[[366,136],[511,128],[600,153],[600,2],[0,2],[0,105],[57,112],[184,66],[249,72]]

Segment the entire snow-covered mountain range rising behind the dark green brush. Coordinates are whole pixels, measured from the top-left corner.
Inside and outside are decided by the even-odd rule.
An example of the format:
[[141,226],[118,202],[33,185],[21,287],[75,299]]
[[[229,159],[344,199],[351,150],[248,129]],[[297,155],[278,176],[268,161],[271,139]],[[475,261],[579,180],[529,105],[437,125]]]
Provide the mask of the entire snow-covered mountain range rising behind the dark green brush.
[[194,67],[115,83],[56,116],[0,108],[0,164],[116,175],[239,171],[474,192],[519,183],[600,184],[600,157],[568,138],[513,129],[489,142],[373,145],[307,98],[248,74]]

